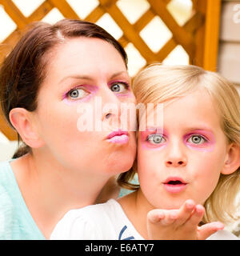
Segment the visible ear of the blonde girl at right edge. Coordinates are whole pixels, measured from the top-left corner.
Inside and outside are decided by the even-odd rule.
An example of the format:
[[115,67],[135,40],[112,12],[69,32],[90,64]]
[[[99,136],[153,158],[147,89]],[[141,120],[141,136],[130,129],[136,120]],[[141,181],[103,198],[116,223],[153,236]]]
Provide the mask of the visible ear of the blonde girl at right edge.
[[230,144],[222,174],[232,174],[240,166],[240,145]]

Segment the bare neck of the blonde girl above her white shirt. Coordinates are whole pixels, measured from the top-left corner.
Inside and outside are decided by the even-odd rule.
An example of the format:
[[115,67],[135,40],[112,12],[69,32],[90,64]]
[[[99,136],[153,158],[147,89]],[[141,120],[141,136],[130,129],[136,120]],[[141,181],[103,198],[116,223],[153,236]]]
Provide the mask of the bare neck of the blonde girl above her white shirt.
[[131,194],[127,194],[125,197],[119,198],[118,202],[135,230],[141,234],[142,238],[148,239],[146,216],[154,207],[146,200],[142,190],[138,189]]

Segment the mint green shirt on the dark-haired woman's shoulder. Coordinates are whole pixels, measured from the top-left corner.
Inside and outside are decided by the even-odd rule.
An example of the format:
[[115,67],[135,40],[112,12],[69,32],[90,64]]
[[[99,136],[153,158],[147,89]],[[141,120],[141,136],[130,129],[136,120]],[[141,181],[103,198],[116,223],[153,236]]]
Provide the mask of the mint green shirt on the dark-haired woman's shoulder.
[[0,163],[0,239],[45,239],[22,198],[11,161]]

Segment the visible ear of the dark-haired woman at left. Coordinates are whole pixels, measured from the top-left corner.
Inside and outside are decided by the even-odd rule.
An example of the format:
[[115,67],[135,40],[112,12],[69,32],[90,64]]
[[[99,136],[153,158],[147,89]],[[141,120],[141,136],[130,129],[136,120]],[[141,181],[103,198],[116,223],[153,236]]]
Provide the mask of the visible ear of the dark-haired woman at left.
[[12,126],[17,130],[26,145],[31,148],[38,148],[44,145],[37,129],[35,129],[34,118],[32,118],[30,111],[22,107],[16,107],[10,110],[9,118]]

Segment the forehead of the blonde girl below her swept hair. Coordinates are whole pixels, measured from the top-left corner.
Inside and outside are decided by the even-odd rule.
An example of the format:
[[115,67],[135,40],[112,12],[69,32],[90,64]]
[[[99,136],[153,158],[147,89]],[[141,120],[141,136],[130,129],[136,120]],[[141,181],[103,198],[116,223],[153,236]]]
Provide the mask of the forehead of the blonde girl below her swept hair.
[[[171,98],[170,101],[160,102],[150,108],[146,104],[144,114],[139,116],[139,126],[163,127],[163,126],[202,126],[218,127],[221,116],[212,97],[196,91],[183,97]],[[149,111],[148,111],[149,110]],[[205,125],[204,125],[205,124]]]

